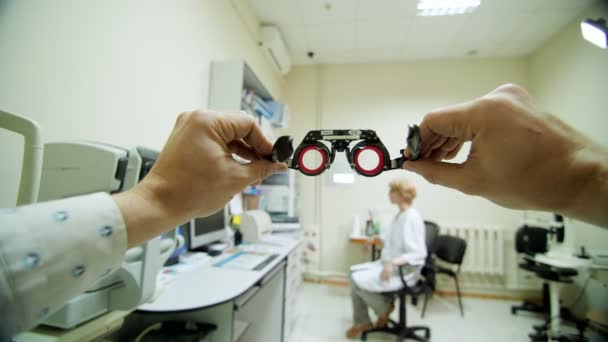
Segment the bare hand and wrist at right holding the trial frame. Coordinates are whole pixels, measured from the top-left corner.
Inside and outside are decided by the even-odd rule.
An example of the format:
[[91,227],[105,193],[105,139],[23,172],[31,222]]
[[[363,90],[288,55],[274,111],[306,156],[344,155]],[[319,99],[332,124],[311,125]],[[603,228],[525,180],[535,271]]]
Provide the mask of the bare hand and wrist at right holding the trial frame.
[[[581,108],[581,111],[584,111]],[[583,114],[583,113],[581,113]],[[404,168],[499,205],[559,212],[608,225],[608,152],[540,111],[516,85],[433,111],[420,124],[421,159]],[[462,164],[442,162],[466,141]]]

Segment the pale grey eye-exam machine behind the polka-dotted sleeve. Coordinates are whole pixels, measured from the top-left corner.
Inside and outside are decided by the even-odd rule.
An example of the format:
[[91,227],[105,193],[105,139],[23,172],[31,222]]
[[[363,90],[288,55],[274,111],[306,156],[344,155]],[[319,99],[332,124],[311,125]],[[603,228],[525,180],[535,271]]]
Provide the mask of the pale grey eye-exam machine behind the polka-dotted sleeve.
[[[126,191],[143,179],[158,155],[142,147],[126,150],[95,142],[47,143],[39,200]],[[43,324],[71,329],[106,312],[131,310],[149,301],[156,291],[158,272],[177,247],[175,231],[171,234],[171,238],[156,237],[127,250],[120,269],[102,277]]]

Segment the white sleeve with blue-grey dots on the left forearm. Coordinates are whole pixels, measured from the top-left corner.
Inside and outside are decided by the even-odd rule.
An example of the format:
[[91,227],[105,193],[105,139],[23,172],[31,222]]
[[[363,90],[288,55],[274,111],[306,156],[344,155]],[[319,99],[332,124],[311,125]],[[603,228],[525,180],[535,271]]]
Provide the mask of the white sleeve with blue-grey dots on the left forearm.
[[0,209],[0,341],[119,268],[126,248],[122,215],[106,193]]

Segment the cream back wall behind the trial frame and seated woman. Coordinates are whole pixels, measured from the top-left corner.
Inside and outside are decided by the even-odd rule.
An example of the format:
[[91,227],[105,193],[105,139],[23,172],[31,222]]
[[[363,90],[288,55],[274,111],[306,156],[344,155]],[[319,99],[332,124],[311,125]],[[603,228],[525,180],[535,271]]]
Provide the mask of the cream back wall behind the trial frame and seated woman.
[[[378,132],[395,158],[404,147],[408,124],[419,123],[434,108],[470,100],[506,82],[527,86],[523,58],[312,66],[296,68],[289,75],[285,99],[294,112],[291,131],[297,143],[310,129],[369,128]],[[459,156],[461,160],[466,152]],[[352,217],[367,217],[370,207],[392,209],[387,184],[399,177],[416,184],[419,197],[415,206],[426,219],[440,225],[513,228],[520,223],[520,212],[431,185],[406,171],[358,177],[352,186],[330,185],[325,177],[300,175],[301,214],[304,224],[319,226],[322,272],[345,274],[350,265],[369,257],[348,242]]]

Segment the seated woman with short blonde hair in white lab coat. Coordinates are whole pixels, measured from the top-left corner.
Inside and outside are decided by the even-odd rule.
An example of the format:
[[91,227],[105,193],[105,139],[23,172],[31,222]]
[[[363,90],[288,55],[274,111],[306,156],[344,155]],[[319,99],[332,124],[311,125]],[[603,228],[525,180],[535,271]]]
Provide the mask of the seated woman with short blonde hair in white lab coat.
[[[424,221],[412,208],[415,197],[416,188],[407,180],[390,183],[389,198],[399,208],[399,213],[382,233],[384,248],[380,260],[351,268],[354,325],[346,332],[348,338],[357,338],[366,330],[386,326],[394,309],[393,298],[381,292],[403,287],[397,267],[404,266],[408,285],[418,280],[427,252]],[[369,318],[368,307],[378,316],[375,325]]]

